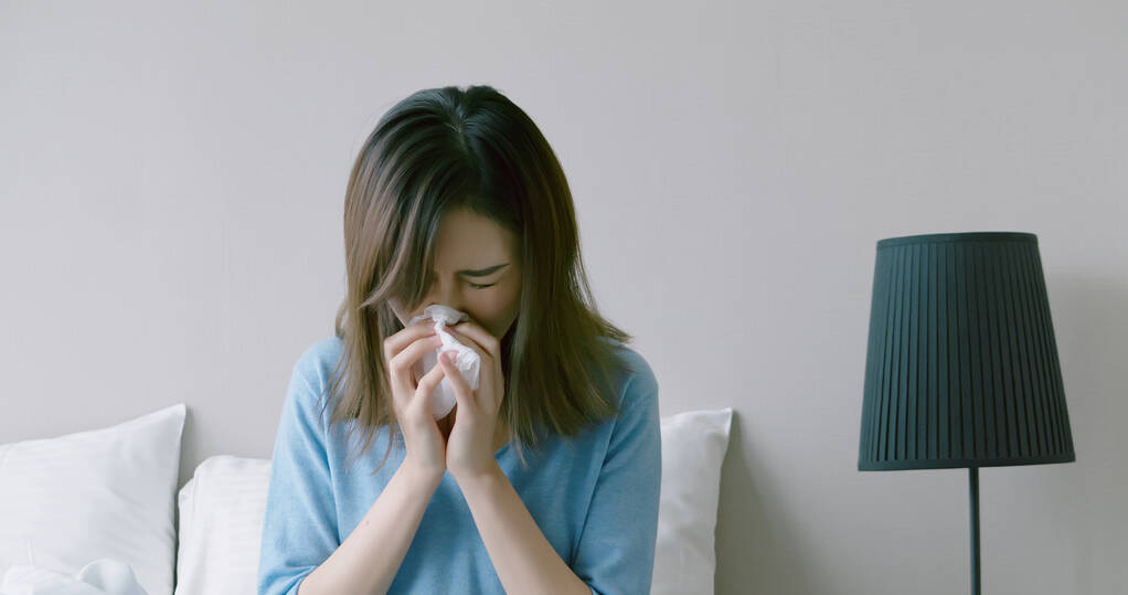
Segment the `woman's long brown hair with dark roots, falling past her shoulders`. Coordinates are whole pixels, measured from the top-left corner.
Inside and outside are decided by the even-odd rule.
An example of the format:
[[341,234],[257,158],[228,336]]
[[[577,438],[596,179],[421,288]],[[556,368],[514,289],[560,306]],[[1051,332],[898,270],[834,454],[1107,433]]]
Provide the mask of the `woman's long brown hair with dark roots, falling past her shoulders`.
[[349,436],[363,432],[363,445],[354,455],[369,448],[378,428],[389,428],[372,473],[394,446],[390,428],[402,438],[384,340],[404,326],[390,305],[414,308],[423,299],[440,220],[458,208],[518,238],[522,287],[517,320],[500,342],[505,395],[499,414],[521,464],[521,445],[536,449],[543,432],[573,437],[618,413],[614,379],[627,364],[614,341],[633,338],[598,313],[556,155],[532,120],[493,87],[422,89],[376,124],[345,194],[347,289],[335,323],[343,349],[323,413],[332,403],[331,425],[355,420]]

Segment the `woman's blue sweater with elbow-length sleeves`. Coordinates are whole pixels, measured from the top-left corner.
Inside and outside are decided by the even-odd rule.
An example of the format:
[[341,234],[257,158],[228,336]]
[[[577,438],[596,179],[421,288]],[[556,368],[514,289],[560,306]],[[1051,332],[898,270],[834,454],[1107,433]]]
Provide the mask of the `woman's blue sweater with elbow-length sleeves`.
[[[571,443],[550,435],[539,452],[523,448],[528,467],[509,444],[495,456],[545,537],[592,594],[643,595],[650,593],[654,569],[662,473],[658,382],[642,356],[615,344],[632,370],[618,379],[622,412],[616,419],[584,429]],[[271,464],[258,595],[298,593],[403,462],[399,441],[371,474],[387,448],[388,428],[381,427],[369,450],[345,469],[346,446],[352,446],[346,428],[328,428],[328,410],[321,419],[317,409],[341,350],[336,336],[323,339],[293,367]],[[388,593],[505,593],[449,471]]]

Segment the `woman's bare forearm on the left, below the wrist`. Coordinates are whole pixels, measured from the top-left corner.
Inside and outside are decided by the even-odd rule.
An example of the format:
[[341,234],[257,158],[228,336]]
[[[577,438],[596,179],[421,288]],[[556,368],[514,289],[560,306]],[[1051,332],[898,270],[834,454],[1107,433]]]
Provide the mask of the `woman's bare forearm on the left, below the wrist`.
[[441,481],[400,464],[356,528],[298,585],[298,595],[387,593]]

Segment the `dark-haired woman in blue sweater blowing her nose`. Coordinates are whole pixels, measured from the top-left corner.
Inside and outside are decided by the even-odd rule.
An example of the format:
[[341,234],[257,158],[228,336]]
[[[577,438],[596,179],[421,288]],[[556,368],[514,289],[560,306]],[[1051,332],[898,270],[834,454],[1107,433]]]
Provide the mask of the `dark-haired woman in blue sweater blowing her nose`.
[[[649,593],[658,383],[597,313],[528,115],[488,86],[396,104],[353,165],[344,239],[335,333],[282,406],[258,593]],[[448,330],[481,358],[475,391],[446,361],[412,373],[440,343],[405,324],[433,304],[470,318]]]

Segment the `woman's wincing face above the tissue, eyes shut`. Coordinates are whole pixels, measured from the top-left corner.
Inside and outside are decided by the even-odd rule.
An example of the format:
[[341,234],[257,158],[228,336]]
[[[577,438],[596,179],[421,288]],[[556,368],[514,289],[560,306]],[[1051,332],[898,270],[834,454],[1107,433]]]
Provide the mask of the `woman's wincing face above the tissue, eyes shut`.
[[[414,312],[391,300],[400,324],[423,314],[432,304],[467,313],[499,340],[517,320],[521,270],[517,237],[493,220],[467,209],[448,212],[439,225],[435,271],[428,294]],[[490,286],[490,287],[475,287]]]

